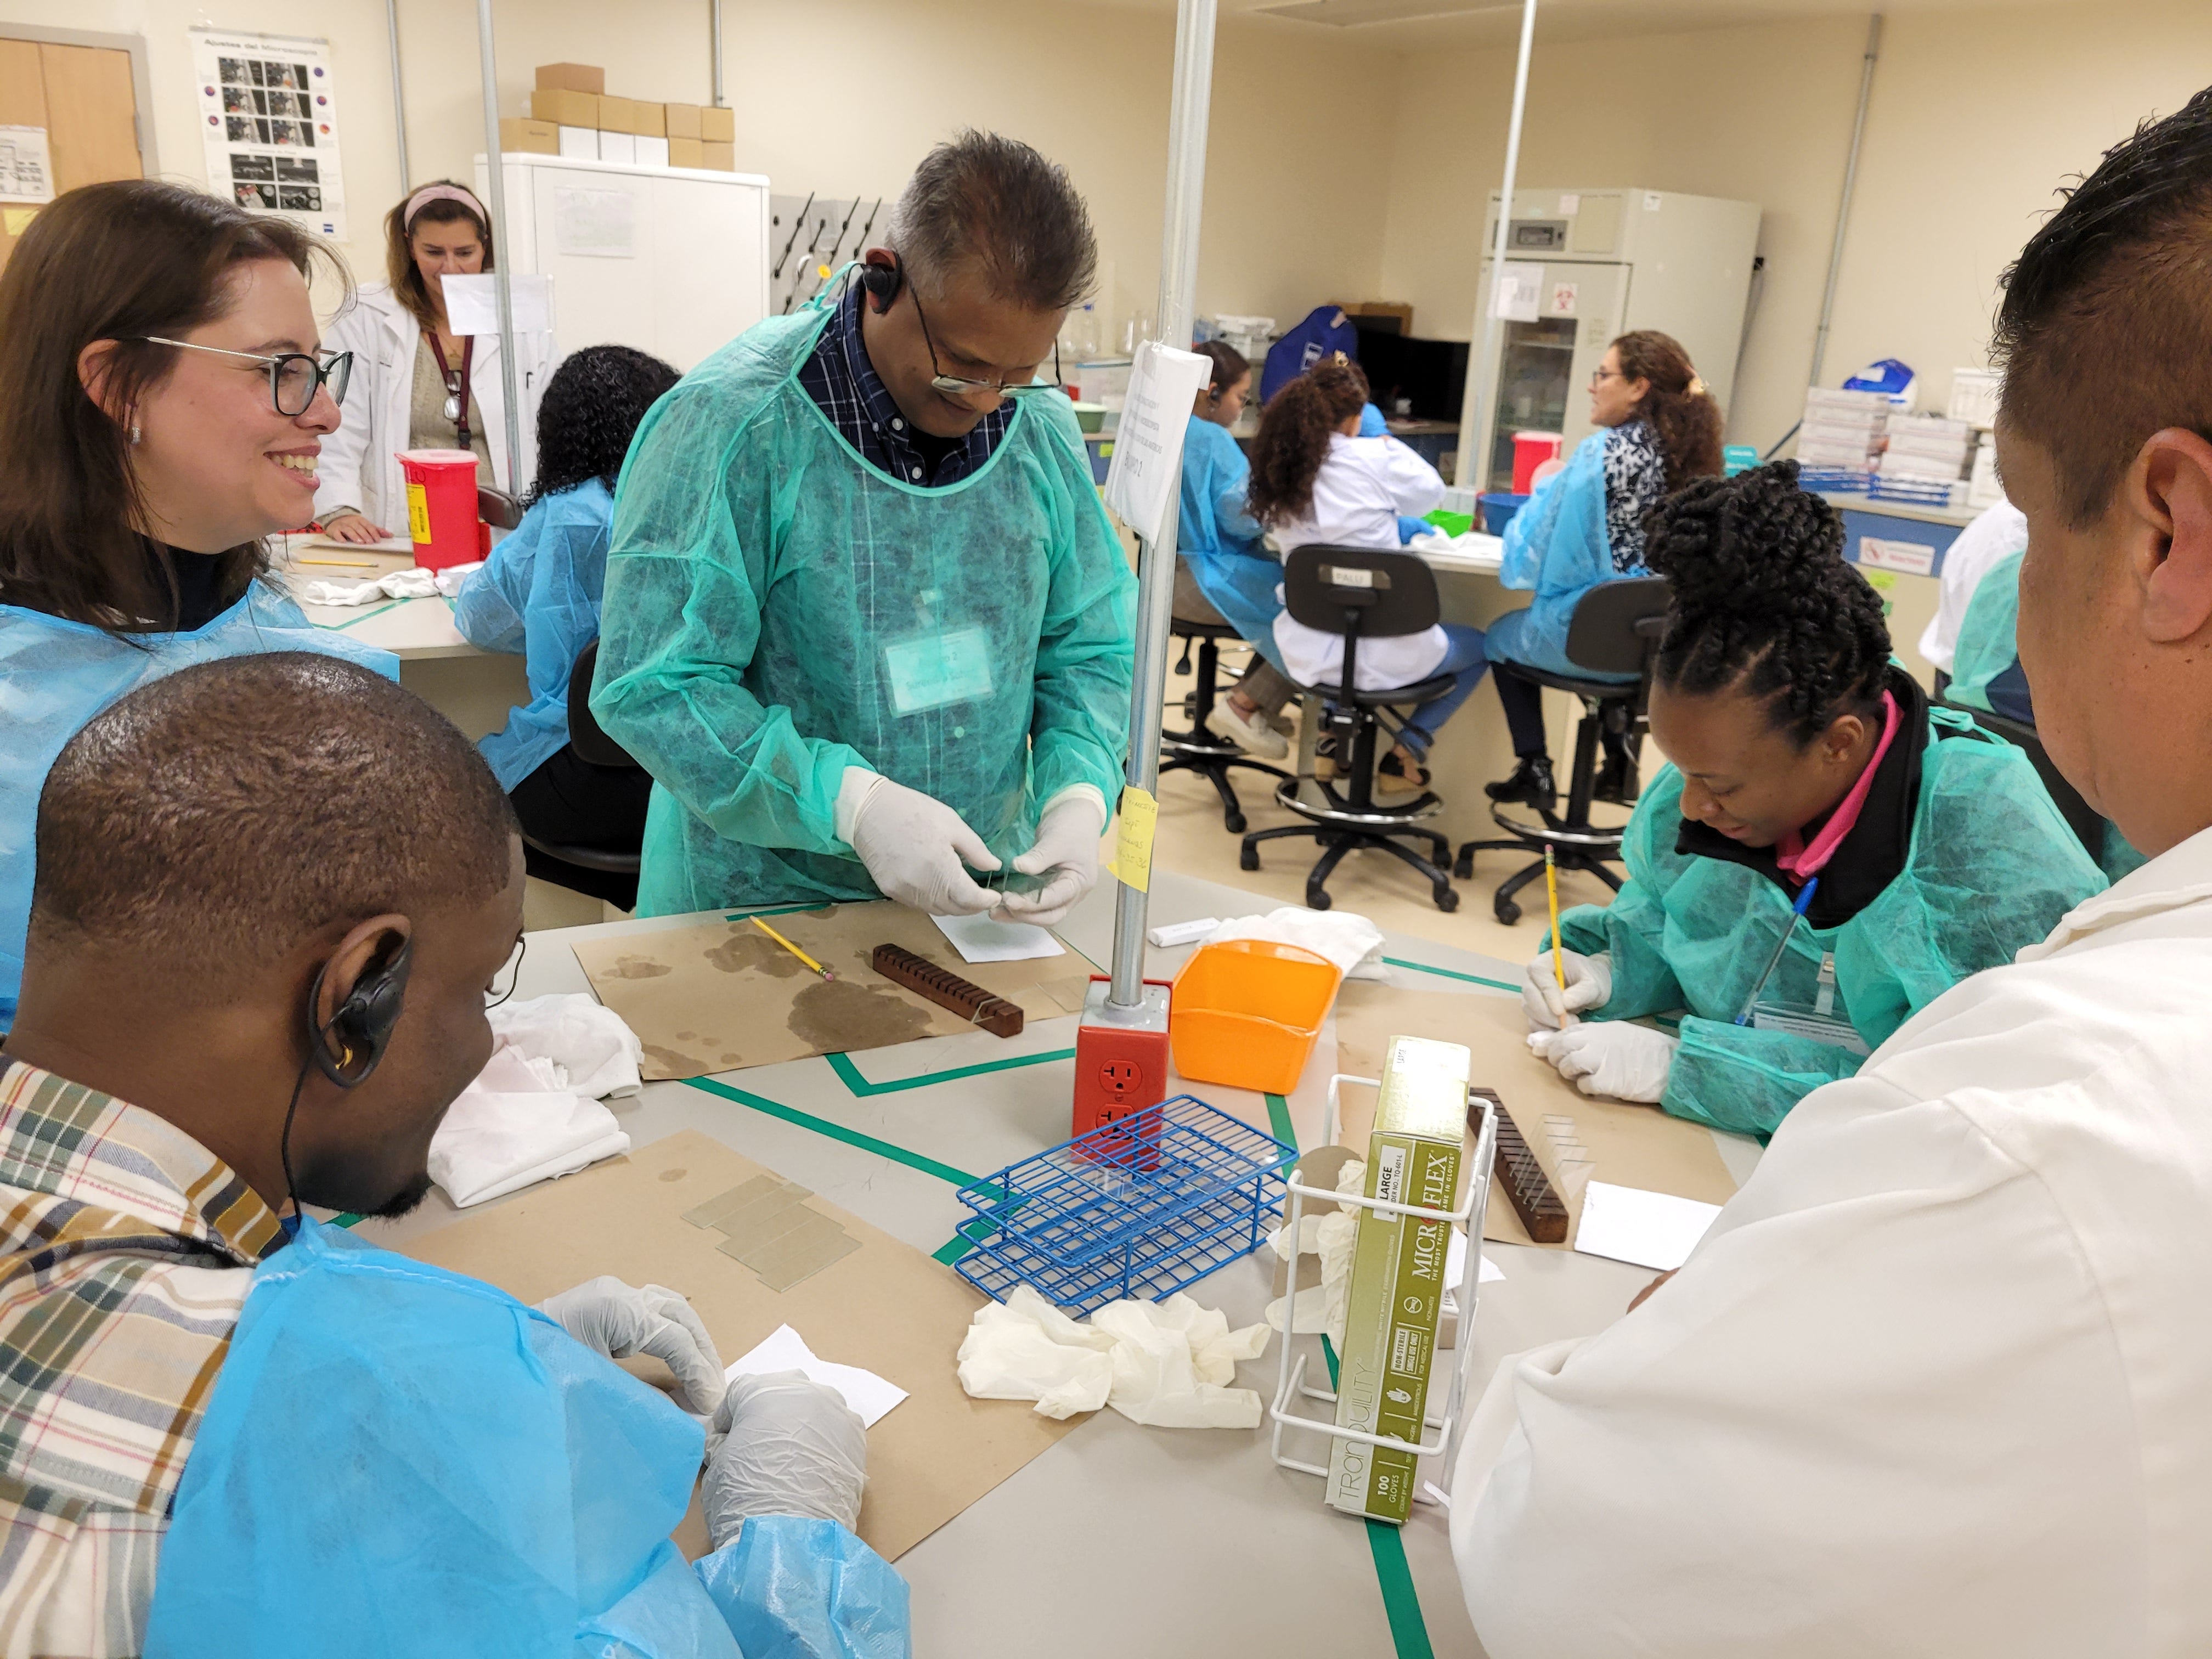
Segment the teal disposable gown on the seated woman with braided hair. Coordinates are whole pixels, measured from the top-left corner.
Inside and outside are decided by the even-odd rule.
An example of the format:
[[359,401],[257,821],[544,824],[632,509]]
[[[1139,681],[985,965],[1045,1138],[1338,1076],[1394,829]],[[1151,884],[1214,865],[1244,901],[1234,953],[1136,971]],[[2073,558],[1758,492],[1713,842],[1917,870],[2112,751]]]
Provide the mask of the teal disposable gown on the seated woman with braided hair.
[[[1628,821],[1628,880],[1613,905],[1559,918],[1571,951],[1613,958],[1613,995],[1590,1020],[1686,1009],[1659,1102],[1677,1117],[1772,1135],[1787,1110],[1860,1057],[1834,1044],[1734,1024],[1790,927],[1790,898],[1763,874],[1674,852],[1681,772],[1663,768]],[[1820,956],[1836,953],[1836,1015],[1878,1048],[1969,973],[2042,942],[2104,874],[2051,805],[2028,757],[1964,714],[1929,710],[1905,869],[1843,927],[1798,922],[1763,1000],[1812,1004]]]

